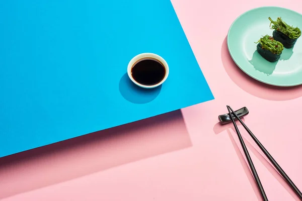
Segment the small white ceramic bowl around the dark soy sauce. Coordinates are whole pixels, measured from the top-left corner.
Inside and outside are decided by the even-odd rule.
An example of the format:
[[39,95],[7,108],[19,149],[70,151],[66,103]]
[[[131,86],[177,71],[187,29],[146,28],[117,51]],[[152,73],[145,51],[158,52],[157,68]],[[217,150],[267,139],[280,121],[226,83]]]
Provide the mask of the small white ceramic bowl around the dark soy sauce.
[[[154,59],[160,61],[164,65],[164,67],[166,69],[166,74],[165,74],[165,77],[163,78],[163,80],[161,82],[159,82],[157,84],[154,84],[154,85],[143,85],[143,84],[140,84],[140,83],[138,83],[137,81],[135,81],[133,79],[132,74],[131,74],[131,68],[133,67],[133,65],[135,64],[135,62],[137,62],[138,60],[143,59],[143,58],[154,58]],[[169,66],[168,66],[168,63],[166,62],[166,60],[163,57],[161,57],[161,56],[159,56],[157,54],[154,54],[154,53],[141,53],[141,54],[136,55],[135,57],[133,57],[130,60],[130,62],[128,64],[127,72],[128,72],[128,76],[131,79],[131,81],[133,83],[135,83],[137,86],[140,86],[142,88],[154,88],[154,87],[157,87],[157,86],[161,85],[162,83],[164,83],[166,81],[166,79],[167,79],[167,77],[169,75]]]

